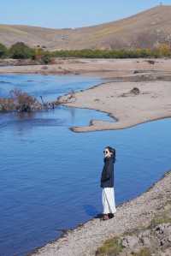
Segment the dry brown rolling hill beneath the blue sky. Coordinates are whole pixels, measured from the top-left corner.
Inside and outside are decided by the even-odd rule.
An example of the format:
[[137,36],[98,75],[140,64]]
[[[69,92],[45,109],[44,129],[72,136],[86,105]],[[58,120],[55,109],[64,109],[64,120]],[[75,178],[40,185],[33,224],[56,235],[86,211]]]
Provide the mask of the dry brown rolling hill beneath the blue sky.
[[0,42],[10,46],[22,41],[48,50],[120,49],[171,45],[171,6],[156,6],[120,21],[92,27],[50,29],[0,25]]

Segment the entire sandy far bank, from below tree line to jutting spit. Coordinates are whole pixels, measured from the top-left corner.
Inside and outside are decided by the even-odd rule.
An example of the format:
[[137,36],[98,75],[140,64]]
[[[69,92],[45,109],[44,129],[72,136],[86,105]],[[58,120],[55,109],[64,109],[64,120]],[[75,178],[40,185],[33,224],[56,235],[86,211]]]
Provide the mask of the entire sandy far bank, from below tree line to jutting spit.
[[[53,65],[0,67],[0,74],[85,74],[105,79],[99,86],[60,98],[61,104],[99,110],[116,122],[91,121],[89,126],[72,128],[89,132],[129,128],[171,116],[170,59],[56,59]],[[106,80],[109,80],[106,81]],[[132,93],[133,88],[139,93]]]

